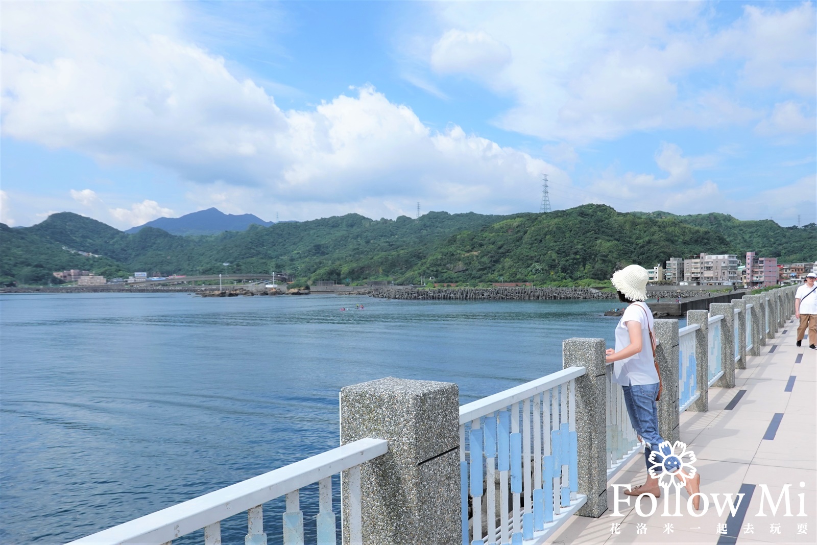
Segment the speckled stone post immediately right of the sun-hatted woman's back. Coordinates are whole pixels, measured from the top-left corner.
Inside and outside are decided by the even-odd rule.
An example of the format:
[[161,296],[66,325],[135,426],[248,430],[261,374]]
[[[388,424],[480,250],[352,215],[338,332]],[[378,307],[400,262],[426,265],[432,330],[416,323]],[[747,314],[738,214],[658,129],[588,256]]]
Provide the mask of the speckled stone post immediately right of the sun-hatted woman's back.
[[678,423],[678,320],[656,319],[655,357],[661,373],[661,400],[659,400],[659,434],[674,443],[681,439]]

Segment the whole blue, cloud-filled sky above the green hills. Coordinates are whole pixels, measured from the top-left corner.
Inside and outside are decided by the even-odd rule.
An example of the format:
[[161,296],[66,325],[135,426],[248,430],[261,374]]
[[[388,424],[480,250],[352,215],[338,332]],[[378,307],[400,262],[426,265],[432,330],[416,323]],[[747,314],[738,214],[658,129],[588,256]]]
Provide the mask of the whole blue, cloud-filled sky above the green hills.
[[813,2],[2,2],[0,221],[817,221]]

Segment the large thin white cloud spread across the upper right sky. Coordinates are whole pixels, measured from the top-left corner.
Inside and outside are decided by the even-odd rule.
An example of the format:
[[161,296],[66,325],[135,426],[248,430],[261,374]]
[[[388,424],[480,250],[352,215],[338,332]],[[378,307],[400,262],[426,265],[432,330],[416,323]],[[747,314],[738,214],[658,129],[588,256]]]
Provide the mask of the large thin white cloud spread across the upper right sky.
[[451,2],[431,11],[436,36],[417,18],[408,54],[424,56],[432,73],[468,73],[479,61],[441,51],[460,51],[461,37],[478,33],[507,47],[502,70],[484,78],[514,99],[495,123],[546,140],[745,126],[761,117],[757,87],[815,94],[810,2],[744,7],[725,24],[694,2]]

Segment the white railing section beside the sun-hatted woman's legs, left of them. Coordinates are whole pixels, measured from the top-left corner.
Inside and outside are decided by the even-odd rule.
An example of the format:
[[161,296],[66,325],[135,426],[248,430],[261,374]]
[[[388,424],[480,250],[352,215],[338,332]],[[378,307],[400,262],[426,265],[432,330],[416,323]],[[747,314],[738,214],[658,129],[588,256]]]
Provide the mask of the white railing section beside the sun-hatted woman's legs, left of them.
[[607,480],[613,478],[627,462],[638,453],[643,452],[644,444],[638,440],[638,434],[632,428],[624,403],[624,391],[620,384],[613,382],[613,364],[605,369],[607,384]]

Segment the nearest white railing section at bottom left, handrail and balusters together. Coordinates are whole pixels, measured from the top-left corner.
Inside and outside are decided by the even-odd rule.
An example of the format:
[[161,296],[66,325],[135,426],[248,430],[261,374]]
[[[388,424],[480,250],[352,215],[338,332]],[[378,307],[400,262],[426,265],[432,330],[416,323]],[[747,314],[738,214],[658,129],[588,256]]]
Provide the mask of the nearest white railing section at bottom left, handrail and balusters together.
[[220,545],[221,520],[248,511],[247,545],[266,543],[263,504],[287,497],[283,514],[283,543],[304,543],[304,520],[299,490],[319,483],[320,507],[315,517],[319,545],[336,543],[337,517],[332,506],[332,476],[346,471],[349,489],[350,543],[362,543],[360,518],[360,464],[385,454],[386,440],[361,439],[328,450],[300,462],[280,467],[252,479],[204,494],[167,509],[102,530],[68,545],[114,545],[139,543],[162,545],[172,543],[199,529],[204,529],[205,545]]

